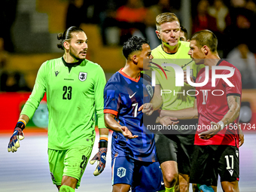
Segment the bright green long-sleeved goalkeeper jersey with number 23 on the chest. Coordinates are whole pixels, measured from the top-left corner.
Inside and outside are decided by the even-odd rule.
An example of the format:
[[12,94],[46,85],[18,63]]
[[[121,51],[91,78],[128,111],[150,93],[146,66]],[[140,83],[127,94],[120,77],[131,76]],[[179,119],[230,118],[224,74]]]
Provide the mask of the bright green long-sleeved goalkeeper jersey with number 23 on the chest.
[[87,59],[72,67],[62,57],[48,60],[38,70],[32,94],[21,114],[31,119],[46,92],[48,148],[66,150],[92,146],[96,118],[99,128],[105,128],[105,82],[101,66]]

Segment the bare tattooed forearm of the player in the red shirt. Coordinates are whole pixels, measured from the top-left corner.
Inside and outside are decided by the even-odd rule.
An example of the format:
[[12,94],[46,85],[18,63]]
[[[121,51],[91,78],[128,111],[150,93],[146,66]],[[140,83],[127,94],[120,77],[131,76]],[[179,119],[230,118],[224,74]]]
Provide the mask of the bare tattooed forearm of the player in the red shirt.
[[225,126],[233,123],[239,117],[240,113],[240,96],[227,96],[227,105],[230,108],[227,114],[222,118]]

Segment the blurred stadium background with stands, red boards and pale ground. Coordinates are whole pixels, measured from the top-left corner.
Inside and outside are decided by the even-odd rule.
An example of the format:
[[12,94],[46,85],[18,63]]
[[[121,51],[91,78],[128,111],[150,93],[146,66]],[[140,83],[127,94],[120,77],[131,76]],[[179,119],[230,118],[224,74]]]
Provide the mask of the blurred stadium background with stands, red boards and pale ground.
[[[122,5],[141,2],[134,6],[142,8],[138,22],[145,30],[123,29],[117,18]],[[83,5],[84,4],[84,5]],[[76,11],[72,8],[76,6]],[[69,11],[68,11],[69,10]],[[71,11],[70,11],[71,10]],[[221,11],[220,11],[221,10]],[[15,154],[8,153],[7,145],[14,125],[35,83],[41,63],[62,56],[58,50],[56,35],[66,26],[80,25],[87,33],[89,50],[87,59],[99,63],[108,79],[123,67],[125,59],[120,44],[129,35],[144,35],[151,41],[151,48],[160,42],[154,35],[154,15],[157,11],[172,11],[187,28],[188,38],[192,32],[207,27],[200,26],[200,19],[208,18],[209,27],[218,34],[220,55],[227,58],[234,47],[245,61],[242,77],[242,108],[240,122],[245,127],[245,144],[240,148],[240,191],[255,191],[256,188],[256,81],[254,80],[255,38],[254,16],[256,5],[251,0],[2,0],[0,2],[0,191],[56,191],[51,184],[47,164],[47,105],[44,97],[33,119],[26,127],[25,140]],[[135,12],[136,13],[136,12]],[[147,16],[147,17],[146,17]],[[214,21],[214,22],[212,22]],[[221,23],[222,21],[222,23]],[[73,22],[73,23],[72,23]],[[153,23],[153,24],[152,24]],[[207,24],[207,23],[205,23]],[[200,28],[201,27],[201,28]],[[208,28],[207,28],[208,29]],[[152,34],[153,32],[153,34]],[[242,47],[239,47],[242,44]],[[228,45],[228,46],[227,46]],[[235,50],[234,50],[235,51]],[[252,56],[252,59],[250,59]],[[246,64],[246,63],[252,64]],[[253,66],[254,64],[254,66]],[[252,66],[250,66],[252,65]],[[242,70],[242,69],[241,69]],[[250,75],[251,73],[251,75]],[[251,124],[251,129],[248,126]],[[109,142],[110,143],[110,142]],[[96,153],[96,146],[93,154]],[[93,176],[95,166],[87,165],[78,191],[111,191],[111,158],[99,177]],[[221,188],[218,187],[218,191]]]

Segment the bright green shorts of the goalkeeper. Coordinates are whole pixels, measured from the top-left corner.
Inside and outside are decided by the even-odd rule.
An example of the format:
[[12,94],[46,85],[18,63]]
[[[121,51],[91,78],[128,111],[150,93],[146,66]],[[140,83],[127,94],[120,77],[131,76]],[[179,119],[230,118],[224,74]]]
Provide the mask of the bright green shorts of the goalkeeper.
[[62,176],[78,179],[77,187],[80,186],[84,169],[87,166],[93,147],[81,146],[69,150],[48,149],[50,175],[53,184],[61,185]]

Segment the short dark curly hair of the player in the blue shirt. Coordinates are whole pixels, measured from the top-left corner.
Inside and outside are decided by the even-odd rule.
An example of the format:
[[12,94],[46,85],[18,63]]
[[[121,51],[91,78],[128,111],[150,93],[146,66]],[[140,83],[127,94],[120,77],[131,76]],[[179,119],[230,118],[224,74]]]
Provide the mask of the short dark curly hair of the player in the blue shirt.
[[137,36],[129,38],[128,41],[123,44],[123,56],[128,59],[128,56],[134,51],[142,51],[143,44],[149,44],[148,40],[146,40],[145,38],[139,38]]

